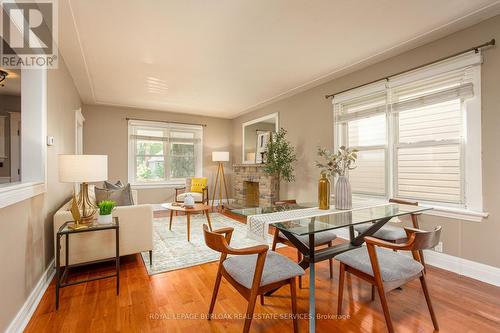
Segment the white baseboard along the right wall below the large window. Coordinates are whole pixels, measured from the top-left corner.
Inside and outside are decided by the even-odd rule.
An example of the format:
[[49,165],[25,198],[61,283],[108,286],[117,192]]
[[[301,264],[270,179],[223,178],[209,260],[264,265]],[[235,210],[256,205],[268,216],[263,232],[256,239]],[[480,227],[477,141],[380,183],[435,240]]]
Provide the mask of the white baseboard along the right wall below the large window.
[[[349,239],[349,230],[336,230],[337,236]],[[474,280],[500,287],[500,268],[481,264],[476,261],[455,257],[446,253],[425,250],[425,263]]]

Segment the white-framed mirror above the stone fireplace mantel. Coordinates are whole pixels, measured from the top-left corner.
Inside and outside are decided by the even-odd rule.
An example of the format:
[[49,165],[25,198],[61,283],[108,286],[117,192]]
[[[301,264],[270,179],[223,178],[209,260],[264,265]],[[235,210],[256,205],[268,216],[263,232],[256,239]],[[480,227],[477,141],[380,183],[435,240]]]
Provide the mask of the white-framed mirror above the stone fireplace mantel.
[[265,158],[267,142],[272,132],[278,131],[278,113],[272,113],[242,125],[242,157],[243,164],[260,164]]

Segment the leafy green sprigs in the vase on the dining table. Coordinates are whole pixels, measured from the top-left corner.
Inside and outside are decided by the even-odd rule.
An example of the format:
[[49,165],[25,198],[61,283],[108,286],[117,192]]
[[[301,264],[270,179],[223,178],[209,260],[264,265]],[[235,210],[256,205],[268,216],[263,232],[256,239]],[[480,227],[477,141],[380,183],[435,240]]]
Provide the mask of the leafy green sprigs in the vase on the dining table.
[[335,175],[345,176],[348,170],[356,168],[358,150],[341,146],[336,153],[332,153],[326,148],[319,147],[318,156],[325,160],[323,163],[316,161],[316,166],[322,169],[321,172],[325,172],[331,177],[335,177]]

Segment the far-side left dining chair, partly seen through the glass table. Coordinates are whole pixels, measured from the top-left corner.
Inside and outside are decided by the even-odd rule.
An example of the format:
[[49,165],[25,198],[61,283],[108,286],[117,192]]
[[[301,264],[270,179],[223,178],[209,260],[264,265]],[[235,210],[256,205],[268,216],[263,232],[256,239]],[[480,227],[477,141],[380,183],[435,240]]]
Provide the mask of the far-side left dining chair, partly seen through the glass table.
[[[297,201],[284,200],[284,201],[277,201],[274,204],[277,206],[287,205],[287,204],[297,204]],[[299,236],[297,238],[299,238],[300,241],[302,243],[304,243],[306,246],[309,246],[309,235]],[[325,246],[325,245],[328,247],[331,247],[331,246],[333,246],[333,241],[336,238],[337,238],[337,235],[331,230],[319,232],[319,233],[314,235],[314,245],[315,245],[315,247],[321,247],[321,246]],[[272,245],[271,249],[273,251],[276,251],[276,246],[279,243],[295,248],[295,245],[293,245],[292,242],[290,242],[288,240],[288,238],[286,238],[286,236],[281,231],[279,231],[278,228],[274,228],[273,245]],[[300,262],[301,260],[302,260],[302,253],[300,253],[300,251],[297,249],[297,261]],[[332,279],[333,278],[333,259],[329,259],[328,261],[330,264],[330,279]],[[302,288],[302,276],[299,276],[299,288]]]

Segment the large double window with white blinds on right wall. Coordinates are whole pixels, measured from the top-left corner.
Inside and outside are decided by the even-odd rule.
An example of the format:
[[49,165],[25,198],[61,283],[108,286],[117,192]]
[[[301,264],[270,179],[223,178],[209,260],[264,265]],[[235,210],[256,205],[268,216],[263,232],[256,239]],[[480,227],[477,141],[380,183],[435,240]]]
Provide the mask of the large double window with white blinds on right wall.
[[353,193],[482,211],[481,55],[336,95],[336,146],[359,150]]

